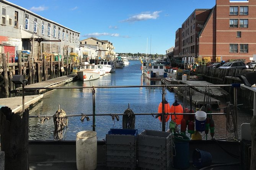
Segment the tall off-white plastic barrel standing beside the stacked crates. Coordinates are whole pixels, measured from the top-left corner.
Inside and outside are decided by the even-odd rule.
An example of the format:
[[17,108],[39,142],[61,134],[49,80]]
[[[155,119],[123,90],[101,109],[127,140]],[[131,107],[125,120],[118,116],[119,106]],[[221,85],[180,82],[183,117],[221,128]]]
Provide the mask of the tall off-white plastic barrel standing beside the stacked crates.
[[97,168],[96,135],[97,133],[94,131],[81,131],[77,133],[77,170],[95,170]]

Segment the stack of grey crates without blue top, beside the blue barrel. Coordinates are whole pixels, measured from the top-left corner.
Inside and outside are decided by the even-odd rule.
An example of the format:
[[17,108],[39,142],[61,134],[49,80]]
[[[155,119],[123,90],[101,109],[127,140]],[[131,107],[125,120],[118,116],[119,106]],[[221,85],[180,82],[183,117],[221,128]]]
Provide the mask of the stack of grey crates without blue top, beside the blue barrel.
[[172,134],[144,130],[137,138],[138,167],[143,170],[169,170],[172,167]]

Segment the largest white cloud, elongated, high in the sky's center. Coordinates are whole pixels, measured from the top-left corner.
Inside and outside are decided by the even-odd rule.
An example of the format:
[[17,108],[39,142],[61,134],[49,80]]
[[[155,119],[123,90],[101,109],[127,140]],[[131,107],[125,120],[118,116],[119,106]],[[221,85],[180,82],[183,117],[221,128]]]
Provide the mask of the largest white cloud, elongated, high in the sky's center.
[[135,21],[144,21],[148,19],[157,19],[161,11],[155,11],[153,13],[144,13],[139,15],[131,16],[128,19],[122,20],[122,22],[135,22]]

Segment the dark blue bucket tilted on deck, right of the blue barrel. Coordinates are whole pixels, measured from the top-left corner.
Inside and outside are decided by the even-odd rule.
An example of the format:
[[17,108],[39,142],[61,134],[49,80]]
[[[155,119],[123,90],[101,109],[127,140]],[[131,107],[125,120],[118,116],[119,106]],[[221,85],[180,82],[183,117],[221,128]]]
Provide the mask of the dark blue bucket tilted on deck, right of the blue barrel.
[[210,154],[210,152],[195,149],[193,151],[192,157],[193,164],[197,168],[207,167],[212,164],[212,155]]

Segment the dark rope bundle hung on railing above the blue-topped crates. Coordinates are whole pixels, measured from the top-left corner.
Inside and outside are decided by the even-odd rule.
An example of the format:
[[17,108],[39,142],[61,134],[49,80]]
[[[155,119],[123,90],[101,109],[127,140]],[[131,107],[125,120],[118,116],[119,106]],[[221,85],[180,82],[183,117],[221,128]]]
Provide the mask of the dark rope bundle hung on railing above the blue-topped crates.
[[135,115],[132,109],[126,109],[124,111],[123,120],[122,120],[122,128],[123,129],[134,129],[135,128]]

